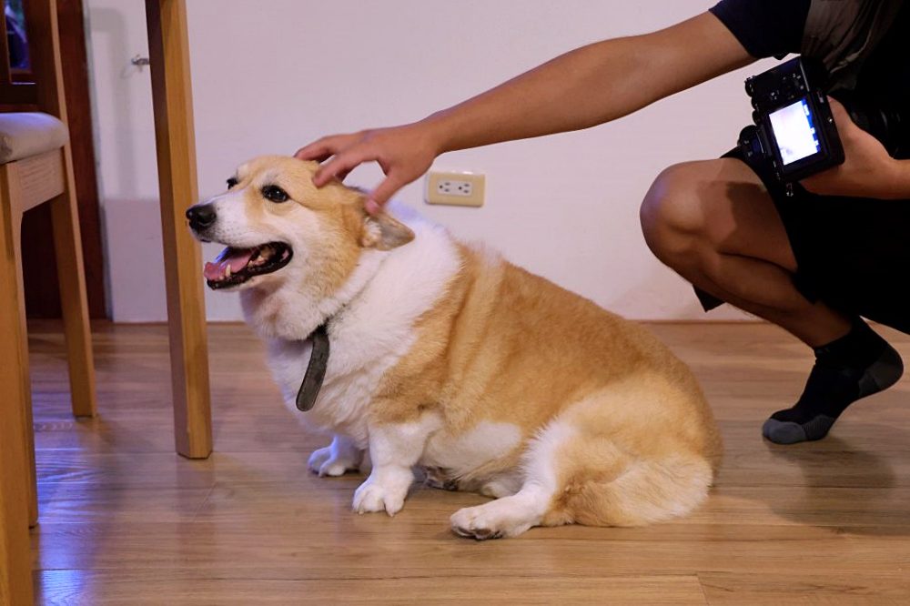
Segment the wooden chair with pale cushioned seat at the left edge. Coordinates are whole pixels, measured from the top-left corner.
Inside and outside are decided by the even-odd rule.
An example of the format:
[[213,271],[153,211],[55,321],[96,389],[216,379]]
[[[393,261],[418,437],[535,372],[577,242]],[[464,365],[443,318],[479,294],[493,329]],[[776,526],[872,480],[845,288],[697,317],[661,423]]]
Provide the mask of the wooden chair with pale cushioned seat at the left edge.
[[25,6],[36,85],[17,82],[27,77],[10,69],[0,32],[0,101],[39,110],[0,113],[0,604],[10,606],[33,600],[28,527],[37,523],[37,492],[20,244],[22,215],[40,204],[51,205],[73,413],[96,411],[56,1]]

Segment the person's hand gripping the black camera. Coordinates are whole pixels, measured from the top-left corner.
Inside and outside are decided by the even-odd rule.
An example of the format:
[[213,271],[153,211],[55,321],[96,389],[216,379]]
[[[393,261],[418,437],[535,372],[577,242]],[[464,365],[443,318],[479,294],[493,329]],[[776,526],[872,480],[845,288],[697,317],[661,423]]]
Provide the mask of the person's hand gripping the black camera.
[[800,184],[822,196],[910,197],[910,160],[889,156],[878,139],[856,126],[843,105],[830,97],[828,102],[844,146],[844,164],[804,178]]

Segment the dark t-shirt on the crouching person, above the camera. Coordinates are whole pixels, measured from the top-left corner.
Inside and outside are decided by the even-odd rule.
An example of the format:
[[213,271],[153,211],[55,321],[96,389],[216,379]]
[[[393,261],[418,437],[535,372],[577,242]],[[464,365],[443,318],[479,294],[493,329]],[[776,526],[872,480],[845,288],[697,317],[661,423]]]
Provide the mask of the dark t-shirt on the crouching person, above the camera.
[[[721,0],[711,8],[757,58],[799,53],[810,0]],[[888,106],[910,105],[910,2],[865,60],[856,94]]]

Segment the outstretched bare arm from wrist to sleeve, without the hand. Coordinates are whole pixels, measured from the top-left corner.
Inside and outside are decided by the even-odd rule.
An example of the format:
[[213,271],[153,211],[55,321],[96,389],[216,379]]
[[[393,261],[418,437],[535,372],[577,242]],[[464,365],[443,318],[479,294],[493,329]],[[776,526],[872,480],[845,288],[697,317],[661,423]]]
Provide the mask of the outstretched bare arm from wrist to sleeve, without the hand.
[[705,13],[652,34],[582,46],[417,124],[440,153],[579,130],[753,60]]

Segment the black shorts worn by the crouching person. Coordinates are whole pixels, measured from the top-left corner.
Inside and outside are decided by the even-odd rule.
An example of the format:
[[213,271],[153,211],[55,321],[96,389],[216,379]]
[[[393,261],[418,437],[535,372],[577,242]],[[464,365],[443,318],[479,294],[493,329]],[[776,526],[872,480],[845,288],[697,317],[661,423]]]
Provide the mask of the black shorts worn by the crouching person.
[[[723,157],[745,162],[738,149]],[[799,184],[787,196],[770,167],[746,164],[784,221],[804,297],[910,333],[910,200],[817,196]],[[695,293],[705,311],[723,304]]]

